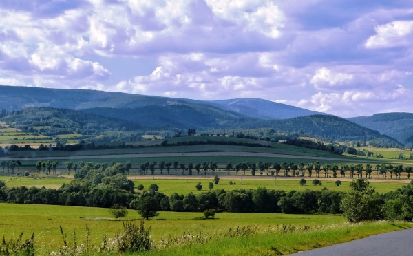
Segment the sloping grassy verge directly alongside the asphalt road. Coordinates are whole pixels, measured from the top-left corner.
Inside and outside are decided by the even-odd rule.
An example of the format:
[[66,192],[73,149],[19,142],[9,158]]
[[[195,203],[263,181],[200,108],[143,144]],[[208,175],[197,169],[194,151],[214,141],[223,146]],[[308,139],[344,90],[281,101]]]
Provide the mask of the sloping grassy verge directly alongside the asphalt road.
[[226,237],[202,245],[173,246],[142,255],[287,255],[411,227],[412,224],[406,223],[371,222],[325,226],[310,231],[267,231],[253,237]]

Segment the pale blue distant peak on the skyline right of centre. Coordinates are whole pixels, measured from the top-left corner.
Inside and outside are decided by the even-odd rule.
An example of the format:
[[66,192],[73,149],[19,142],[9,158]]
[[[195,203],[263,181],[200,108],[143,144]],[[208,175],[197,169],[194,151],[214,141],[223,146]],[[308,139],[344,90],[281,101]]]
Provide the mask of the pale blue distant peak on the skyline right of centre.
[[237,113],[242,113],[246,116],[260,118],[264,120],[271,119],[288,119],[299,116],[310,116],[315,114],[323,114],[316,111],[301,109],[282,103],[275,103],[269,100],[259,98],[236,98],[231,100],[213,100],[211,103],[222,107],[223,109],[231,110]]

